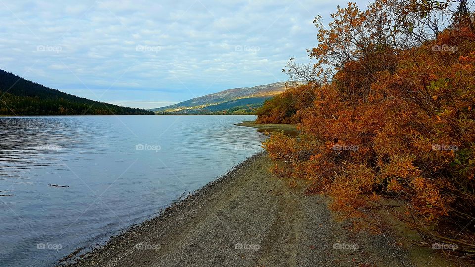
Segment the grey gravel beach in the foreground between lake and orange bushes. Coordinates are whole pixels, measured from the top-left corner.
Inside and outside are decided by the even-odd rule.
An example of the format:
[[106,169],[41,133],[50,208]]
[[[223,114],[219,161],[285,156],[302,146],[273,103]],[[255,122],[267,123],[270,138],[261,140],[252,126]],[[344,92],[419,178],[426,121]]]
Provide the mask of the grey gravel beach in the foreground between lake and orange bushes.
[[[388,234],[355,233],[321,195],[304,195],[251,156],[158,216],[60,266],[461,266]],[[357,245],[357,249],[338,249]],[[336,246],[336,248],[335,248]],[[418,248],[419,249],[419,248]],[[417,257],[415,259],[414,257]]]

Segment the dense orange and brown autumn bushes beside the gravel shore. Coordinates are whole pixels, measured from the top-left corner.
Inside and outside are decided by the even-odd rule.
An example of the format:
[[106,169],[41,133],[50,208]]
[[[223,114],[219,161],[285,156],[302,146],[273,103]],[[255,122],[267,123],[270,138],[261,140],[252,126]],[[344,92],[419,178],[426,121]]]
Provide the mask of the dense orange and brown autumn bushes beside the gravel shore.
[[[266,150],[305,179],[308,192],[328,193],[344,218],[368,222],[365,210],[392,198],[427,241],[474,256],[475,19],[468,3],[378,0],[364,11],[350,3],[332,19],[324,27],[316,18],[319,44],[309,50],[322,83],[292,88],[259,114],[260,122],[299,122],[300,136],[274,134]],[[310,89],[311,97],[299,96]]]

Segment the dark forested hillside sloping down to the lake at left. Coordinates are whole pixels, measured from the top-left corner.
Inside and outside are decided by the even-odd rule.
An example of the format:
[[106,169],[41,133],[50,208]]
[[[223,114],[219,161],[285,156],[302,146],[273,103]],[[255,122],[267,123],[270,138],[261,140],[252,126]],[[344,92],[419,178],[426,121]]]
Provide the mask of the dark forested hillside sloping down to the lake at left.
[[102,103],[0,70],[0,115],[153,115],[154,112]]

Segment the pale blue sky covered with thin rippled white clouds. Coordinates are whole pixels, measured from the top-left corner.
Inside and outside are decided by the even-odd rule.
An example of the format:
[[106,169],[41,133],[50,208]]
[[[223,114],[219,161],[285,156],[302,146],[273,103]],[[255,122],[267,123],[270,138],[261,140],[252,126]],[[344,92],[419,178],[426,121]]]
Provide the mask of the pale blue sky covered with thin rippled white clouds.
[[[155,108],[288,80],[347,0],[0,0],[0,69],[61,91]],[[364,9],[367,2],[358,2]]]

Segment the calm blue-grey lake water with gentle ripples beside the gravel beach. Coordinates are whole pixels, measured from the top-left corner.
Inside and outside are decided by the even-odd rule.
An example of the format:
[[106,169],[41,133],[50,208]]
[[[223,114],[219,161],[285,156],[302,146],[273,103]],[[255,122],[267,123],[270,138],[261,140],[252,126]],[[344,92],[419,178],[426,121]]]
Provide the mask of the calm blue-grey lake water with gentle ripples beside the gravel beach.
[[52,266],[157,215],[260,151],[233,125],[254,119],[0,117],[0,266]]

